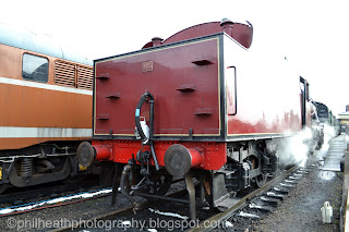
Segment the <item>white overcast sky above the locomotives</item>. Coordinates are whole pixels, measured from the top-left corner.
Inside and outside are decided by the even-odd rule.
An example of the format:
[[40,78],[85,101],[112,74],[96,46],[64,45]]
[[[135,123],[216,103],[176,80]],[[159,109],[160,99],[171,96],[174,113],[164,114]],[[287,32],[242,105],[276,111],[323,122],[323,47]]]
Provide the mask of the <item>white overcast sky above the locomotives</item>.
[[337,114],[349,105],[348,5],[346,0],[1,0],[0,22],[50,35],[98,59],[139,50],[155,36],[165,39],[195,24],[249,21],[251,49],[287,57],[310,82],[311,97]]

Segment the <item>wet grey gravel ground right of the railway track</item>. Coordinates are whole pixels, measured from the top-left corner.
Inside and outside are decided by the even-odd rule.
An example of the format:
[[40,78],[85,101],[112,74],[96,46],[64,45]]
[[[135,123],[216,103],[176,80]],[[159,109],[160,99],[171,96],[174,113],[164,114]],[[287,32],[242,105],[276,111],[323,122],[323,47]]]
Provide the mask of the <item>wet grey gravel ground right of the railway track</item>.
[[[344,136],[338,139],[344,144],[347,143]],[[333,143],[333,147],[338,150],[338,143]],[[328,154],[332,150],[329,147]],[[337,171],[328,169],[326,155],[327,152],[322,151],[310,157],[308,164],[311,167],[311,172],[291,191],[276,210],[257,221],[250,231],[340,231],[344,175],[338,169]],[[325,202],[329,202],[333,207],[332,223],[323,223],[321,208]]]

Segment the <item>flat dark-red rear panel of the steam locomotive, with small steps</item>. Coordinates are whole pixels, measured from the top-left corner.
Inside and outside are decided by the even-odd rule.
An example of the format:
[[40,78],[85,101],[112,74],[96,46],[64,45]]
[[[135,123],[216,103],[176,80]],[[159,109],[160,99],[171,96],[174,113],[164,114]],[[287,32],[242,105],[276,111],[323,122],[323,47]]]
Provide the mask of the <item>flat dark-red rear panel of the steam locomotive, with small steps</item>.
[[[123,56],[96,64],[96,75],[109,73],[108,80],[95,82],[94,132],[97,135],[134,135],[134,111],[145,90],[155,98],[154,134],[219,135],[219,68],[218,39],[183,44],[171,48]],[[193,62],[209,59],[212,63]],[[180,91],[181,86],[195,86],[193,91]],[[119,93],[118,99],[106,98]],[[209,113],[207,113],[209,109]],[[177,113],[180,110],[180,113]],[[122,113],[120,113],[122,112]],[[173,114],[177,114],[173,117]],[[201,117],[201,114],[210,114]],[[141,117],[149,121],[145,103]]]

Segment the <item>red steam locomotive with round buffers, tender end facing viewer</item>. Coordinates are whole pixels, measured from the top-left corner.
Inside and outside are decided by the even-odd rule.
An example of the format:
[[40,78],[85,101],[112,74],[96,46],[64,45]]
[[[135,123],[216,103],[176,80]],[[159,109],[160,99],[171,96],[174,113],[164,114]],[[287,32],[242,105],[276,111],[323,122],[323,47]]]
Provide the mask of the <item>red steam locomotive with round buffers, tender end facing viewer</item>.
[[116,163],[113,202],[119,184],[136,206],[132,195],[157,198],[184,176],[195,218],[193,176],[200,200],[224,210],[230,192],[275,174],[277,143],[311,125],[309,84],[251,52],[252,35],[224,20],[95,61],[93,141],[77,159]]

